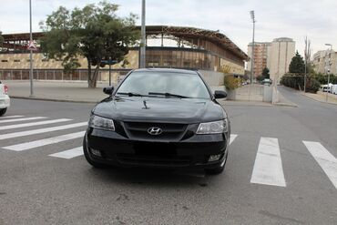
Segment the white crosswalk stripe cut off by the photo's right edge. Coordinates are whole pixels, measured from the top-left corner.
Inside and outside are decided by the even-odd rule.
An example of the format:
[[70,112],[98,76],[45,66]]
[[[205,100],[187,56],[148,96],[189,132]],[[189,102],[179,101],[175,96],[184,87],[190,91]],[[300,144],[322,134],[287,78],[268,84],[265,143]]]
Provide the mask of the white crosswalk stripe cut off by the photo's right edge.
[[337,159],[320,142],[303,140],[303,144],[337,189]]

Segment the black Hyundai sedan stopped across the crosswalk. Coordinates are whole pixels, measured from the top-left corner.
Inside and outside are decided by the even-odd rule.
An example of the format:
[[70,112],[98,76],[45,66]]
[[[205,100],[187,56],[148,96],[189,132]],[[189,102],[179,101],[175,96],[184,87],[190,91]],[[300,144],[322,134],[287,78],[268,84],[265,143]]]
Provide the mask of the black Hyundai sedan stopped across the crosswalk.
[[91,112],[83,141],[94,167],[201,168],[223,171],[230,121],[197,71],[131,71]]

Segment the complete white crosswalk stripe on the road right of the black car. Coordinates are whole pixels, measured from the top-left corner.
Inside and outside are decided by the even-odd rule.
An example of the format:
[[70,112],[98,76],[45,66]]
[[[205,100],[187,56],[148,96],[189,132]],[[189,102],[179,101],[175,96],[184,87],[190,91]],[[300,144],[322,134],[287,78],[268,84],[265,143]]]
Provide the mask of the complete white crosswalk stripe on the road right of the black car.
[[250,183],[286,187],[277,138],[260,138]]

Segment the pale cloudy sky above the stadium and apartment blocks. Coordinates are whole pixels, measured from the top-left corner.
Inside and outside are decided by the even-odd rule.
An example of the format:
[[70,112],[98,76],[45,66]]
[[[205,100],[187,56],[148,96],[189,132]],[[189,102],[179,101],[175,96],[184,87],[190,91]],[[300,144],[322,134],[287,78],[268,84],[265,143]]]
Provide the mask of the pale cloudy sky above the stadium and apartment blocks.
[[[33,32],[39,22],[63,5],[68,9],[98,3],[99,0],[31,0]],[[109,0],[119,5],[118,15],[141,15],[141,0]],[[337,49],[336,0],[146,0],[147,25],[192,26],[220,30],[244,52],[252,39],[250,10],[255,11],[255,41],[271,42],[291,37],[300,54],[304,37],[311,40],[311,56],[318,50]],[[0,31],[3,34],[29,32],[29,0],[0,0]],[[140,25],[140,19],[137,24]]]

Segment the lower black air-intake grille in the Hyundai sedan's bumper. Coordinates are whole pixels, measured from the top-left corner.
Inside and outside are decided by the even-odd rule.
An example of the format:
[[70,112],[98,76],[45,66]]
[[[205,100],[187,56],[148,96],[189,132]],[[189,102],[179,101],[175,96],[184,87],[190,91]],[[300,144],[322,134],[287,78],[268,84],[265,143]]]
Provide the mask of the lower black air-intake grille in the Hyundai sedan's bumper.
[[146,156],[134,154],[117,154],[117,160],[123,164],[144,165],[144,166],[176,166],[186,167],[190,164],[190,157],[162,155],[162,156]]

